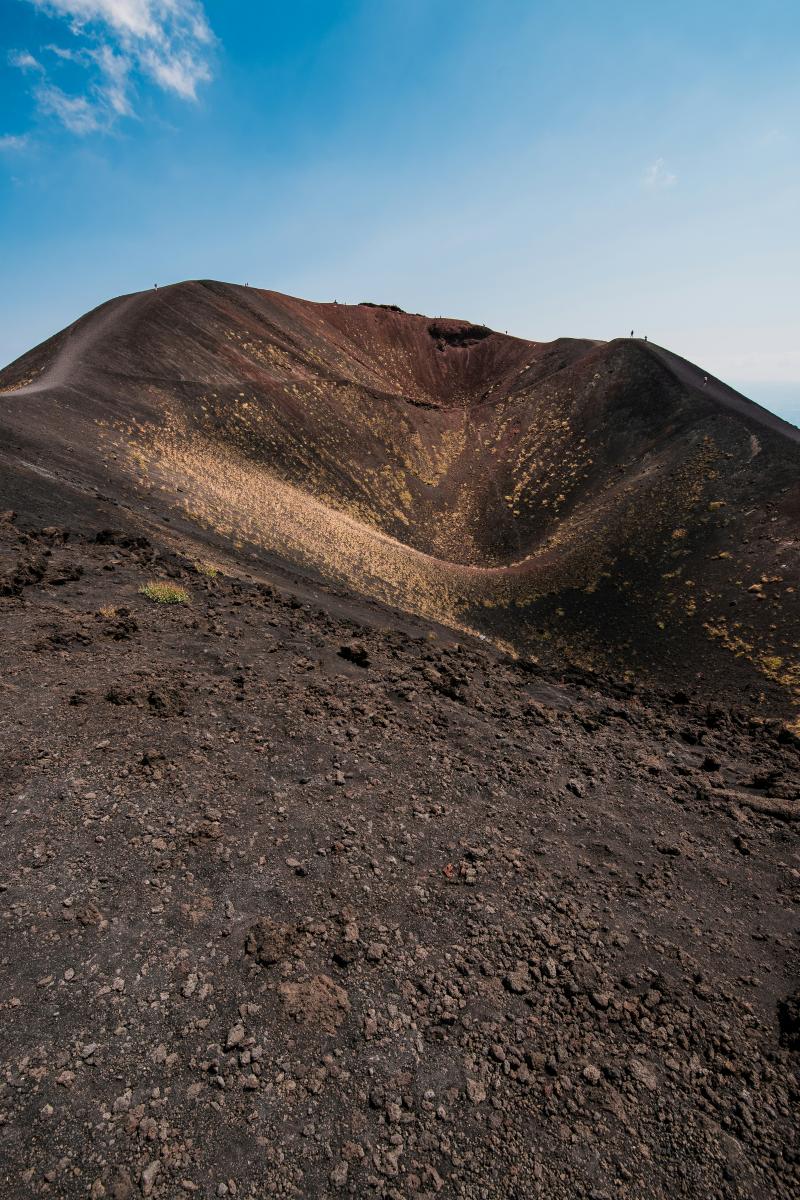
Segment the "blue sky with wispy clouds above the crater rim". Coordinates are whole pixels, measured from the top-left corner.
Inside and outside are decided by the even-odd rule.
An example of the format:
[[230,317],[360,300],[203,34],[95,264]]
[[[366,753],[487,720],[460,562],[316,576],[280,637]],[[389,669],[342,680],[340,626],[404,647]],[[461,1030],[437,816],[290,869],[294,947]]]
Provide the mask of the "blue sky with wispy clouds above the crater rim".
[[0,360],[213,277],[646,332],[800,422],[800,6],[0,0]]

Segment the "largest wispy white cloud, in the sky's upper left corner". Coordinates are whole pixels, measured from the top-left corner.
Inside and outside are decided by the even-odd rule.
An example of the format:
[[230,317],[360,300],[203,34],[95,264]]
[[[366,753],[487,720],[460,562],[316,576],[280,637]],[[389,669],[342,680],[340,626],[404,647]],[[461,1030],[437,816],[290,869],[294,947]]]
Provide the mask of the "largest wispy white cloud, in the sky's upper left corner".
[[[200,0],[28,0],[66,20],[74,46],[44,47],[61,64],[86,71],[79,94],[65,91],[29,50],[11,61],[44,77],[35,89],[42,112],[71,132],[108,128],[134,112],[137,82],[148,79],[182,100],[197,100],[211,78],[213,34]],[[53,64],[58,66],[58,64]]]

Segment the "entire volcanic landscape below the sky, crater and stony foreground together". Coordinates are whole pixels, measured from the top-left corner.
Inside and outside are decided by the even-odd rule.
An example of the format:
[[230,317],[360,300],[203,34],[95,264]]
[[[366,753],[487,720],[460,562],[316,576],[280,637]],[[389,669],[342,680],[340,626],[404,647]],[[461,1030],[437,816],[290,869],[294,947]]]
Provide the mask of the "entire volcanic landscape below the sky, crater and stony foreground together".
[[221,284],[2,386],[2,1200],[794,1200],[792,430]]

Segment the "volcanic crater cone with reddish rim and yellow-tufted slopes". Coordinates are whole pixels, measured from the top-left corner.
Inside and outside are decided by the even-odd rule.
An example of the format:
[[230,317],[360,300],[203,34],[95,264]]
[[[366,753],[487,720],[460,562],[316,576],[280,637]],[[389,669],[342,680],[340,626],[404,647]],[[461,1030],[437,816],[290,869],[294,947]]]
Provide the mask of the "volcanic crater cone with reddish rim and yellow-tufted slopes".
[[193,282],[0,388],[12,506],[44,470],[539,661],[800,694],[800,433],[657,347]]

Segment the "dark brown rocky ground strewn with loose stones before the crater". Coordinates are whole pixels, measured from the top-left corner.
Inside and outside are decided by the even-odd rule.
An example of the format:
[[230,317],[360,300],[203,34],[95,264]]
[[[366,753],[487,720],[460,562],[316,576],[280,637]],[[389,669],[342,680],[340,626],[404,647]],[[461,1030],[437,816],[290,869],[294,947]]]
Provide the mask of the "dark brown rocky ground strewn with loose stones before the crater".
[[4,1200],[798,1195],[780,714],[35,509],[0,521]]

